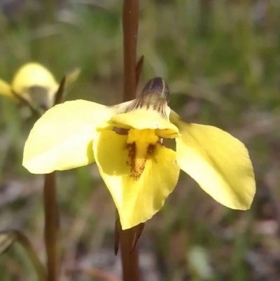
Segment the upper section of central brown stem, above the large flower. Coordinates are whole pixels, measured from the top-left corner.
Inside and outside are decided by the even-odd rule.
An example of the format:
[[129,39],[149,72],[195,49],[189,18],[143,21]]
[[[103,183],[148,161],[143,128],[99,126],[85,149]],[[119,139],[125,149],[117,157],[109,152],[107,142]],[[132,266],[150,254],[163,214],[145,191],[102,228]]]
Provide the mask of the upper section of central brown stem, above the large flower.
[[136,95],[137,36],[139,0],[123,2],[123,57],[124,57],[124,102]]

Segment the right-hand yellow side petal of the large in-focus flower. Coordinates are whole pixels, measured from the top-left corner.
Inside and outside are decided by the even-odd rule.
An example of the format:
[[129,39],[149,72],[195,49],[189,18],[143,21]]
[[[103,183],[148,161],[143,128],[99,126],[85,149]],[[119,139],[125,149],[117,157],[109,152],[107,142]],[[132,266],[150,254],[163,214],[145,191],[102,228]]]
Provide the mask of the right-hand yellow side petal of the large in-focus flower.
[[255,195],[253,167],[244,144],[228,132],[208,125],[177,121],[181,169],[219,203],[247,210]]

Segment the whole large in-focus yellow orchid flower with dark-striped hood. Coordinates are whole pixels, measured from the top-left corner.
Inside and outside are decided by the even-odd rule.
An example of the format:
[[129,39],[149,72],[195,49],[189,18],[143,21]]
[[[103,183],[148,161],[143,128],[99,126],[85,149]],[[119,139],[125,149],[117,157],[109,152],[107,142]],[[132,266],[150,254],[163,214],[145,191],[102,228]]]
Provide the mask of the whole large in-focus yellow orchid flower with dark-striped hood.
[[[75,100],[48,110],[25,144],[23,165],[34,174],[94,161],[123,229],[151,219],[172,193],[180,169],[219,203],[247,210],[255,194],[244,144],[228,132],[183,121],[168,105],[162,78],[136,100],[106,107]],[[162,139],[176,139],[176,151]]]

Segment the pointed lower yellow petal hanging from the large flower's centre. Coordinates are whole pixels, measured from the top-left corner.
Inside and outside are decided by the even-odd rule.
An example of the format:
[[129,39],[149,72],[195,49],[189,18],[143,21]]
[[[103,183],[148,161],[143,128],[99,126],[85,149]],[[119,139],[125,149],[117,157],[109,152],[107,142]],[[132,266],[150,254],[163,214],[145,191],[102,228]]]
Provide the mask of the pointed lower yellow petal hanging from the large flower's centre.
[[138,174],[130,164],[136,151],[127,149],[127,135],[104,130],[94,139],[94,156],[123,229],[151,219],[176,186],[180,170],[176,153],[159,143],[149,152]]

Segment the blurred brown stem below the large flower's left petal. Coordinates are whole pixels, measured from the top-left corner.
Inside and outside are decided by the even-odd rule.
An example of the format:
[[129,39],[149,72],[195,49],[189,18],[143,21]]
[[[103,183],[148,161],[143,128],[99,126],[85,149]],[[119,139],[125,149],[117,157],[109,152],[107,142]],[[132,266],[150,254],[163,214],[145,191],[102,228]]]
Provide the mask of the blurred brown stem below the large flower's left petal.
[[55,172],[45,174],[43,187],[45,210],[45,249],[47,280],[58,281],[60,274],[59,212],[56,198]]

